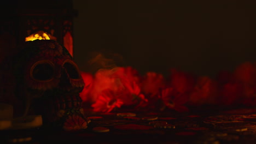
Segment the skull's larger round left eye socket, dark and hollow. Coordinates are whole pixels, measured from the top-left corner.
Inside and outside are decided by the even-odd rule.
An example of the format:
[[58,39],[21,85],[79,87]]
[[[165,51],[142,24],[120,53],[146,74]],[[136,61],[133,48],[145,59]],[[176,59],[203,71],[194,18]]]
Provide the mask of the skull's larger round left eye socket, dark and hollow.
[[35,63],[31,70],[31,77],[39,81],[47,81],[53,79],[54,67],[53,63],[48,61],[39,61]]

